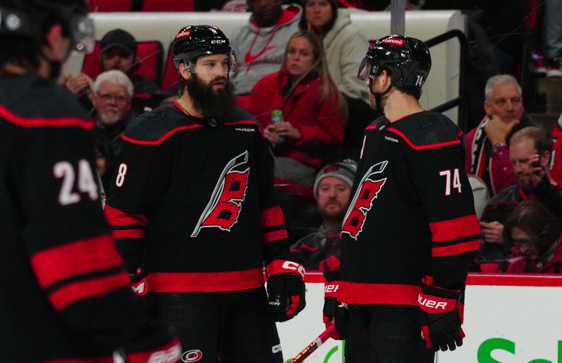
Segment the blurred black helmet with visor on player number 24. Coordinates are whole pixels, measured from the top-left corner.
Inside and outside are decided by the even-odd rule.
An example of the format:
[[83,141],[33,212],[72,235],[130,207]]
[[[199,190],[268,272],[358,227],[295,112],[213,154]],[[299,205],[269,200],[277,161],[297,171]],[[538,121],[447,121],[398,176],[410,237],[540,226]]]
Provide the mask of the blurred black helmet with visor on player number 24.
[[89,53],[95,38],[88,12],[87,0],[0,0],[0,34],[40,44],[45,20],[54,17],[63,23],[63,32],[74,42],[74,49]]

